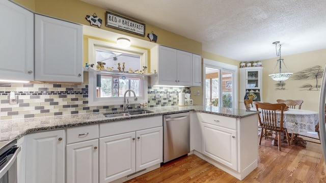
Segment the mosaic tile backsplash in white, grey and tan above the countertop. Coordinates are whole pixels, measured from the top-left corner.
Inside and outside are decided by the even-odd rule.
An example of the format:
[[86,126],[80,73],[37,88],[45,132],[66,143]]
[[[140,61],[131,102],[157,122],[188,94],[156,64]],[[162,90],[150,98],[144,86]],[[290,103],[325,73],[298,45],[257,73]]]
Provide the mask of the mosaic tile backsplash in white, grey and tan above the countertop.
[[[0,83],[0,119],[122,110],[123,105],[89,106],[88,89],[85,84]],[[18,104],[9,104],[10,92],[18,95]],[[190,94],[191,88],[149,86],[148,107],[177,105],[180,92]],[[137,108],[139,104],[130,106]]]

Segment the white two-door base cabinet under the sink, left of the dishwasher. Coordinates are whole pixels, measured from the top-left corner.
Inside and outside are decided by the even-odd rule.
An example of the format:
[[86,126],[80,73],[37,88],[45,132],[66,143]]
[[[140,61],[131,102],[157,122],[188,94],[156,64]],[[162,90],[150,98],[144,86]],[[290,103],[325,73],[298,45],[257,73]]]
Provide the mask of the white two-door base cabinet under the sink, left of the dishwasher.
[[[159,116],[155,117],[154,119],[156,121],[159,119],[160,121],[154,122],[150,119],[143,119],[143,121],[137,125],[138,127],[135,126],[134,128],[146,128],[147,124],[150,124],[150,126],[155,126],[157,123],[159,123],[160,127],[137,130],[100,138],[99,182],[111,182],[162,162],[162,118]],[[101,128],[100,126],[100,134],[101,131],[108,132],[104,130],[106,128],[110,128],[113,130],[112,133],[116,133],[117,131],[114,131],[114,128],[117,126],[115,125],[128,125],[128,127],[124,129],[130,129],[130,125],[135,125],[135,123],[132,121],[134,120],[119,121],[116,124],[104,124],[106,127]],[[121,128],[119,129],[121,130]]]

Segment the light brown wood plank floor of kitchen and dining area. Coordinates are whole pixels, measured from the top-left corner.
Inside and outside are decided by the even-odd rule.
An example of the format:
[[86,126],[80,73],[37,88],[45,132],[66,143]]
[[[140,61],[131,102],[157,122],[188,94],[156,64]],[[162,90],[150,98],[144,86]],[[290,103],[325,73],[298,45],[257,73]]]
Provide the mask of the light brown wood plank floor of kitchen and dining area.
[[326,182],[325,167],[320,144],[282,143],[278,151],[267,139],[259,145],[258,167],[242,181],[191,155],[126,182]]

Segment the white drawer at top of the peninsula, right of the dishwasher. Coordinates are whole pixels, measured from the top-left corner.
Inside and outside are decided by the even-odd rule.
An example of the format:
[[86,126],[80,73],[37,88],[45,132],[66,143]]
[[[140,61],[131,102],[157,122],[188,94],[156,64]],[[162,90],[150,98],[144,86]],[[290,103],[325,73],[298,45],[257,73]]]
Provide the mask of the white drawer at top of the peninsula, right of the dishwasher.
[[236,118],[208,113],[199,113],[202,122],[236,130]]

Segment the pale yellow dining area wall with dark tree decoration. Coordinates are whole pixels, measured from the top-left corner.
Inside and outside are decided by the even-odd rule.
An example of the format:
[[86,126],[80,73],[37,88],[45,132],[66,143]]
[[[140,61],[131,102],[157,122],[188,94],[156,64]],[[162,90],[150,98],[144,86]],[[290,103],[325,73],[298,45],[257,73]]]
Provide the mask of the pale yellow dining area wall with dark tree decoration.
[[[326,64],[326,49],[282,56],[289,72],[300,72],[304,69],[321,66],[324,69]],[[303,90],[303,84],[316,84],[315,80],[292,80],[284,81],[285,89],[276,89],[278,82],[272,80],[268,74],[272,74],[278,58],[261,60],[263,64],[263,101],[276,103],[277,99],[301,99],[304,101],[301,109],[318,111],[319,90]],[[283,72],[282,64],[282,72]],[[284,68],[285,69],[285,68]],[[321,79],[318,79],[320,85]]]

